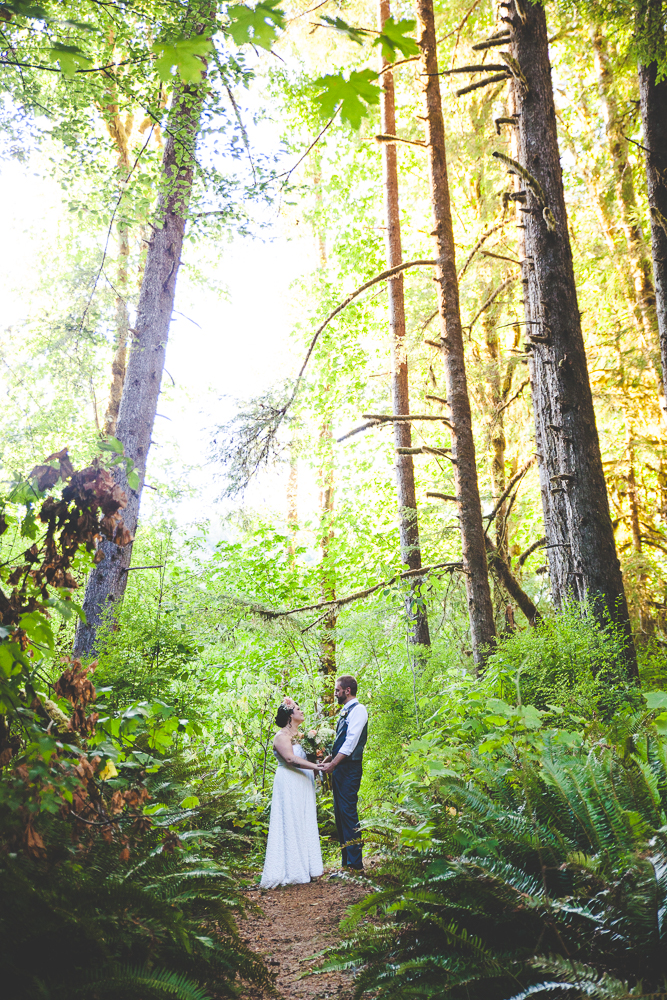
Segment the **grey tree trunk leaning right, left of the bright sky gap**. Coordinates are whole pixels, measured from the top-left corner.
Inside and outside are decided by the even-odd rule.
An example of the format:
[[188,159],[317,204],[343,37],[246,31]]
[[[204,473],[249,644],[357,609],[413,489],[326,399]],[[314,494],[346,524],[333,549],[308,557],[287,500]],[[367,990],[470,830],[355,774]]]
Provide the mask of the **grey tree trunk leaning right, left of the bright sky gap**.
[[[174,94],[169,114],[169,137],[162,158],[161,190],[155,210],[153,236],[146,256],[136,327],[132,331],[118,414],[116,436],[139,475],[139,485],[132,490],[127,484],[124,468],[116,467],[116,480],[128,497],[123,519],[132,535],[136,532],[139,519],[139,504],[174,308],[203,97],[203,87],[194,85],[181,85]],[[74,644],[78,656],[94,651],[101,622],[107,614],[113,615],[127,586],[132,545],[121,548],[113,542],[104,541],[101,549],[104,558],[91,571],[86,585],[83,603],[86,624],[79,624]]]

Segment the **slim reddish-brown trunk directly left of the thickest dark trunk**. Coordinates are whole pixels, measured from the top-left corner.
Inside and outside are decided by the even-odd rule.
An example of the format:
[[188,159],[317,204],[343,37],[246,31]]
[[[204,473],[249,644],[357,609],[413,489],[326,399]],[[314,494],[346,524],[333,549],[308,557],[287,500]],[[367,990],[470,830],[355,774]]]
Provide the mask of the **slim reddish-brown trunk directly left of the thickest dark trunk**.
[[486,546],[479,500],[475,443],[463,350],[463,333],[456,274],[454,231],[447,177],[445,126],[440,100],[435,18],[432,0],[418,0],[418,43],[424,80],[426,144],[431,203],[435,221],[437,264],[435,284],[440,336],[452,423],[452,458],[465,568],[470,634],[475,663],[480,666],[493,643],[496,628],[491,604]]

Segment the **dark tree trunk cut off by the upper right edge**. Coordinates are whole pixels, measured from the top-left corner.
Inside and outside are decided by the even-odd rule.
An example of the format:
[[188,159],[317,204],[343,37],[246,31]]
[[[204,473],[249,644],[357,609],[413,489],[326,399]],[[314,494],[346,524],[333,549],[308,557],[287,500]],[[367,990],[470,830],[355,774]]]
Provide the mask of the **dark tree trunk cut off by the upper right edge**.
[[639,104],[642,115],[646,186],[651,213],[655,307],[667,395],[667,78],[657,82],[658,60],[665,57],[663,0],[641,0],[636,35],[640,47]]

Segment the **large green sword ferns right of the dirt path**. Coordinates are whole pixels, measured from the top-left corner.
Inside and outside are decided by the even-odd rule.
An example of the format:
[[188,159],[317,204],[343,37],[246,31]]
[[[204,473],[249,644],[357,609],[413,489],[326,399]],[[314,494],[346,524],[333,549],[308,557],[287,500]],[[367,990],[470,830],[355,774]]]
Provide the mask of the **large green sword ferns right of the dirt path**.
[[432,830],[421,870],[408,854],[399,886],[354,908],[331,962],[359,967],[357,996],[664,991],[667,747],[650,729],[629,756],[550,737],[534,758],[474,753],[413,806]]

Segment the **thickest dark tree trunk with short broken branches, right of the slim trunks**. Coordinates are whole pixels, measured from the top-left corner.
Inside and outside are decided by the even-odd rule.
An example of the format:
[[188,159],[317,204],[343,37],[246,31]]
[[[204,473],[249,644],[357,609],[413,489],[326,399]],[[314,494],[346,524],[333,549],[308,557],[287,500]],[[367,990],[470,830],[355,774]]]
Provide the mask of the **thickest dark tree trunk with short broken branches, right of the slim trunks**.
[[587,598],[601,621],[608,614],[636,675],[574,282],[544,8],[521,4],[517,11],[513,4],[503,20],[525,81],[516,82],[515,99],[526,171],[526,339],[543,498],[545,487],[550,494],[544,519],[552,594],[557,606],[573,595]]

